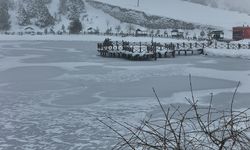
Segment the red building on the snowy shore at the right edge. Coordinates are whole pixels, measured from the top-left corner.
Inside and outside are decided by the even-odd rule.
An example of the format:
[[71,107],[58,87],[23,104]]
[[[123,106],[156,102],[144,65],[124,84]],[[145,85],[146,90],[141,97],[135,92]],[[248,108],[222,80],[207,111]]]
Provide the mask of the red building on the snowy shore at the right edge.
[[250,27],[233,27],[233,40],[250,39]]

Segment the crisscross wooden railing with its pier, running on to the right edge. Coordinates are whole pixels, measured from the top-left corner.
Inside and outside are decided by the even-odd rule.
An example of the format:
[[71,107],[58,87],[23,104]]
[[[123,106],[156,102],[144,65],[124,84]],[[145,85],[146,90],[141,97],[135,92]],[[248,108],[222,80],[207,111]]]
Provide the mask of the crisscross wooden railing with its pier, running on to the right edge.
[[127,41],[106,41],[97,44],[97,50],[101,56],[121,57],[134,60],[156,60],[157,58],[175,57],[176,55],[204,54],[205,48],[250,50],[250,44],[222,42],[147,43]]

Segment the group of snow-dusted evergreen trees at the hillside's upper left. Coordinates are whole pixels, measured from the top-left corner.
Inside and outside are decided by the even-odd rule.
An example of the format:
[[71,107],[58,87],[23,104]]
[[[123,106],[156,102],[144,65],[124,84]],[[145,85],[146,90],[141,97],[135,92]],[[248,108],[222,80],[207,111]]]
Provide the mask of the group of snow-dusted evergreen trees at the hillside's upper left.
[[81,14],[85,13],[83,0],[59,0],[58,12],[53,15],[48,9],[52,0],[0,0],[0,31],[11,28],[10,11],[16,9],[17,24],[36,25],[40,28],[52,27],[61,21],[61,16],[70,20],[70,33],[82,30]]

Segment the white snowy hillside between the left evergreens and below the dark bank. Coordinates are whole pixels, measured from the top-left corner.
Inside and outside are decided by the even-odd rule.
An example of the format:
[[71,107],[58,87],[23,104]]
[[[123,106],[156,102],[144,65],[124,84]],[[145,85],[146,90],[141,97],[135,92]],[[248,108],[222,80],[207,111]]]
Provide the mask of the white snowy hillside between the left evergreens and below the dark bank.
[[[26,1],[39,1],[39,0],[22,0],[24,2],[24,8],[27,11],[27,4]],[[12,3],[13,9],[9,9],[10,14],[10,22],[11,22],[11,28],[10,31],[23,31],[24,28],[27,26],[32,27],[35,29],[35,31],[44,32],[45,29],[53,29],[54,31],[62,30],[62,26],[65,26],[65,29],[67,30],[67,27],[70,24],[69,14],[70,10],[68,8],[64,8],[63,13],[60,12],[60,5],[62,1],[70,1],[70,0],[48,0],[48,3],[46,4],[49,13],[52,17],[54,17],[55,22],[53,25],[48,25],[46,27],[39,27],[36,25],[36,18],[32,18],[29,24],[25,25],[19,25],[18,23],[18,9],[19,9],[19,0],[14,0]],[[77,0],[76,0],[77,1]],[[83,0],[84,3],[84,10],[80,12],[79,19],[82,22],[83,25],[83,31],[86,31],[88,28],[93,28],[94,30],[99,30],[100,32],[105,32],[107,28],[112,28],[115,30],[117,26],[121,28],[120,30],[126,30],[126,27],[128,24],[126,22],[121,23],[119,20],[113,18],[112,16],[106,14],[102,10],[95,9],[94,7],[90,6],[85,0]],[[135,25],[136,27],[136,25]],[[115,31],[113,31],[115,32]]]

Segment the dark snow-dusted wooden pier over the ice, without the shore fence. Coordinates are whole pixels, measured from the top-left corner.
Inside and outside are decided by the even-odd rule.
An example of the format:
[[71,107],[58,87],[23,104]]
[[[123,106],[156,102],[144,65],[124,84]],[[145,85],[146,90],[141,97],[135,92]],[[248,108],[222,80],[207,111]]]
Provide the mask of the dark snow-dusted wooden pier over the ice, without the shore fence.
[[97,44],[100,56],[125,58],[128,60],[157,60],[157,58],[174,58],[176,56],[203,54],[205,44],[193,43],[142,43],[142,42],[111,42]]

